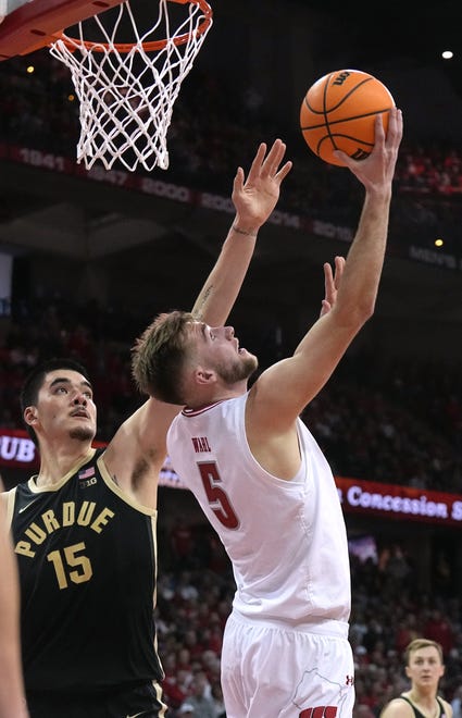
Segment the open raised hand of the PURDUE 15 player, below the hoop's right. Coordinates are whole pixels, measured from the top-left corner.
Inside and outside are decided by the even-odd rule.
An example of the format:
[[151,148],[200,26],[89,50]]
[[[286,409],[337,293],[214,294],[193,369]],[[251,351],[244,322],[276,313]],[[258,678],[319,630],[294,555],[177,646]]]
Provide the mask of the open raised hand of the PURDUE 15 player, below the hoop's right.
[[280,139],[273,143],[266,153],[266,144],[262,143],[251,164],[247,180],[242,168],[238,168],[232,199],[236,208],[236,224],[247,232],[254,232],[266,222],[279,199],[279,188],[288,175],[292,163],[282,166],[286,145]]

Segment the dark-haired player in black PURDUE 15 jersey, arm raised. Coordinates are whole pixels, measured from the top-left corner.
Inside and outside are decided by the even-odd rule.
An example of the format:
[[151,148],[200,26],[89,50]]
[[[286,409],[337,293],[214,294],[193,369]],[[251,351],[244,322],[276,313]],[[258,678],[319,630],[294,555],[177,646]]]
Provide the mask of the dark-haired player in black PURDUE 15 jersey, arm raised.
[[[284,154],[279,139],[269,152],[262,144],[247,180],[238,169],[236,216],[193,307],[198,319],[228,315],[291,168]],[[40,469],[2,499],[18,560],[30,718],[160,718],[157,488],[179,407],[150,398],[95,450],[97,408],[84,367],[46,362],[21,400]]]

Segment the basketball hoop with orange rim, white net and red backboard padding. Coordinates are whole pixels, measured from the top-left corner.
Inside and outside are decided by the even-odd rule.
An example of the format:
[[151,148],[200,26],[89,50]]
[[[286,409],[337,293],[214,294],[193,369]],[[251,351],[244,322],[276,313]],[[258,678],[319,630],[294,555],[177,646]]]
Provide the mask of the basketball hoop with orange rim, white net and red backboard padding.
[[1,16],[0,60],[48,46],[70,70],[77,162],[168,168],[173,106],[212,24],[207,0],[0,0]]

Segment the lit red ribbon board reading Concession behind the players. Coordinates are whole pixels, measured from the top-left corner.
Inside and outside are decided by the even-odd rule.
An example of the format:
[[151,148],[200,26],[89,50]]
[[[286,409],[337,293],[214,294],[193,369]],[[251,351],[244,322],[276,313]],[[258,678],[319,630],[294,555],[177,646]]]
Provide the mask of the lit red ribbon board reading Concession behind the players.
[[[93,446],[105,444],[95,442]],[[30,473],[38,470],[38,451],[26,431],[0,429],[1,467],[23,469]],[[462,528],[462,495],[346,476],[336,476],[335,481],[345,513]],[[168,458],[161,471],[159,484],[170,488],[186,488]]]

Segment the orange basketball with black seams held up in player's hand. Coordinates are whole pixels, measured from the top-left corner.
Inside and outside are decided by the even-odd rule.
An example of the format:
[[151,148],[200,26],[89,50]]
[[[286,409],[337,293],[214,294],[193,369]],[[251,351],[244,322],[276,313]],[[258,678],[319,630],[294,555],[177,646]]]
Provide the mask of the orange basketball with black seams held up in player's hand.
[[345,166],[334,151],[364,160],[374,147],[375,116],[382,114],[386,133],[392,107],[390,91],[376,77],[360,70],[338,70],[308,90],[300,108],[300,128],[319,158]]

